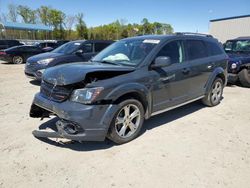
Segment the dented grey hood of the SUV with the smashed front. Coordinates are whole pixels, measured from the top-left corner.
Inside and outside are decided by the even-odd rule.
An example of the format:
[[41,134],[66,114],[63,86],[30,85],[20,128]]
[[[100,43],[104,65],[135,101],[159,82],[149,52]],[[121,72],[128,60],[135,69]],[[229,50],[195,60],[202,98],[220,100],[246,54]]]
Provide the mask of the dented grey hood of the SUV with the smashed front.
[[70,85],[83,81],[85,76],[91,72],[130,72],[134,69],[134,67],[130,66],[110,65],[103,63],[71,63],[46,69],[43,74],[43,80],[53,85]]

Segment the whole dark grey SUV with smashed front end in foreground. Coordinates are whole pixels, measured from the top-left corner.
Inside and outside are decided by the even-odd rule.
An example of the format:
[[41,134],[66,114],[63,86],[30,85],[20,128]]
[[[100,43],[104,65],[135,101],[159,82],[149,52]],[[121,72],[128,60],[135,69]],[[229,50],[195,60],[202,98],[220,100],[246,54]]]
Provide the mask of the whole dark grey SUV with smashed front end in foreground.
[[88,63],[45,70],[30,116],[58,116],[58,131],[33,134],[129,142],[151,116],[200,99],[218,105],[227,83],[227,59],[222,45],[207,35],[120,40]]

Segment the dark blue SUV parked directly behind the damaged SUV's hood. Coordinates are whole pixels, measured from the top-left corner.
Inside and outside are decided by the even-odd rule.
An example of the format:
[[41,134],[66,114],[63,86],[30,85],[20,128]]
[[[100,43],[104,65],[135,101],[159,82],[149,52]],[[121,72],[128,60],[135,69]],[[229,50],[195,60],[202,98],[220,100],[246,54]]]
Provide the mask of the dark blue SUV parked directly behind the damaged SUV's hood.
[[88,61],[113,41],[77,40],[63,44],[50,53],[39,54],[29,58],[25,66],[27,77],[41,80],[42,72],[48,67],[65,63]]

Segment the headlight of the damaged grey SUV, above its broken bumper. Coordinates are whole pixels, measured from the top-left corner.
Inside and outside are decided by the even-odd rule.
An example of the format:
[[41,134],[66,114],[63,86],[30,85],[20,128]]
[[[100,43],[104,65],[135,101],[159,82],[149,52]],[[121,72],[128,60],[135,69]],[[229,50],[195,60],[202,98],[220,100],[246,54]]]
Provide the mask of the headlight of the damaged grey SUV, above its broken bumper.
[[103,89],[103,87],[76,89],[72,92],[70,100],[83,104],[90,104],[96,99]]

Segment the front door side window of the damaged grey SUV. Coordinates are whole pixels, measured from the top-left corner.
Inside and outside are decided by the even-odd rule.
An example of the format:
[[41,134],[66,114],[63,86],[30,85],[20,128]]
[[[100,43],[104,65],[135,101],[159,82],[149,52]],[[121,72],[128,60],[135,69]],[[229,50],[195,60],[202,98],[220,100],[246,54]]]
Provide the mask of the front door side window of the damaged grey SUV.
[[181,63],[184,61],[184,53],[181,41],[173,41],[166,44],[156,57],[166,56],[170,57],[172,63]]

